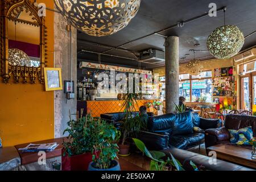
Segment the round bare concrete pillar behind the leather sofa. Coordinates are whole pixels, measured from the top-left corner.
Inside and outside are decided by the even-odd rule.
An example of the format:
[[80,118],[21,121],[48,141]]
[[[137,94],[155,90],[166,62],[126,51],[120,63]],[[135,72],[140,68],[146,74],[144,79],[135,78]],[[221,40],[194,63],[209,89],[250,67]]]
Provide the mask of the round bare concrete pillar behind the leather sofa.
[[175,112],[179,104],[179,37],[166,39],[166,113]]

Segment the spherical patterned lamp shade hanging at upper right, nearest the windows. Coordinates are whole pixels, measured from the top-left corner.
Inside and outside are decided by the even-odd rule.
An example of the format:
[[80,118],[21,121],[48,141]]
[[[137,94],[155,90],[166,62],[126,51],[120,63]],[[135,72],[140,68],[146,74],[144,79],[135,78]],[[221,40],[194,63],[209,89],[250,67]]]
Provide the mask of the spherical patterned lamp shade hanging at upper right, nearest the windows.
[[216,28],[207,40],[209,52],[218,59],[230,58],[236,55],[245,43],[243,32],[233,25]]

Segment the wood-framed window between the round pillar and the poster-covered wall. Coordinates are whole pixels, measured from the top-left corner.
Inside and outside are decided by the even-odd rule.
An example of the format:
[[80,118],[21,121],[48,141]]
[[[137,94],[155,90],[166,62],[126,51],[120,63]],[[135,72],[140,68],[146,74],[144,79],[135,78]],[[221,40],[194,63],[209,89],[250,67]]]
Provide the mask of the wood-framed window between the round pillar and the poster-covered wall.
[[212,71],[197,76],[183,74],[179,76],[179,96],[192,102],[212,102]]

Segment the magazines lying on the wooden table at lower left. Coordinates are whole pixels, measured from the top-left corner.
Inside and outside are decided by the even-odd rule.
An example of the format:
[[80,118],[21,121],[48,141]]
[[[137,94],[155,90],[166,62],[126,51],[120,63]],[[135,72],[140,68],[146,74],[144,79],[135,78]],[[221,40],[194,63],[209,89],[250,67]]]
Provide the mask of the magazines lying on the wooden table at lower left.
[[38,152],[38,151],[46,151],[51,152],[55,150],[55,148],[59,146],[59,144],[55,143],[44,143],[44,144],[28,144],[27,147],[19,148],[19,150],[22,150],[23,152]]

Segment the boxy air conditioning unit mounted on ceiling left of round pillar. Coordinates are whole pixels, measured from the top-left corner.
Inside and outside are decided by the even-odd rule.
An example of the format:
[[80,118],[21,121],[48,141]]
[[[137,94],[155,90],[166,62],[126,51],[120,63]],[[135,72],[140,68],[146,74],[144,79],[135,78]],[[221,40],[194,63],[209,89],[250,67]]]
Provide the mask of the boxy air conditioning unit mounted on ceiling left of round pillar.
[[156,49],[148,49],[146,51],[141,52],[139,62],[148,63],[148,64],[156,64],[165,61],[164,51],[159,51]]

